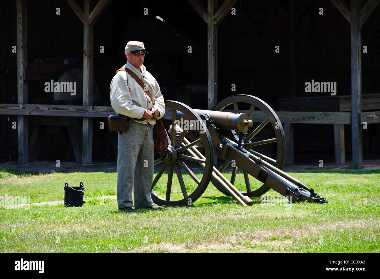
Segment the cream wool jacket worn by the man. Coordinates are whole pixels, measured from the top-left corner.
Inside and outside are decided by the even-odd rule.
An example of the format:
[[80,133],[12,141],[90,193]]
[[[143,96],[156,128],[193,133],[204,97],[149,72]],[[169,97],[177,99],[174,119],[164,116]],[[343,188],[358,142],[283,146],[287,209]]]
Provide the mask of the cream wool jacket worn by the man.
[[127,72],[119,71],[112,78],[111,88],[111,106],[117,114],[125,115],[130,118],[142,118],[145,110],[158,108],[160,114],[145,121],[136,121],[139,123],[150,123],[154,125],[156,119],[160,119],[165,114],[165,102],[161,94],[160,86],[155,78],[141,65],[140,72],[136,67],[127,62],[123,67],[130,69],[136,76],[146,84],[150,94],[152,94],[153,104],[149,95],[141,88]]

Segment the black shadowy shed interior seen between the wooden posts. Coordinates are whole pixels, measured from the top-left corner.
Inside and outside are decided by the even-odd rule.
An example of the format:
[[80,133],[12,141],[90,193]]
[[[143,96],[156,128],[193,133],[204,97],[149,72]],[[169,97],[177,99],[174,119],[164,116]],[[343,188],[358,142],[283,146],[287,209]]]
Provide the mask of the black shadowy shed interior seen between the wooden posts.
[[[207,0],[200,2],[207,7]],[[83,1],[76,3],[83,9]],[[90,10],[96,4],[90,1]],[[236,14],[228,13],[218,26],[218,100],[250,94],[277,112],[284,98],[331,96],[330,92],[305,92],[305,83],[312,80],[336,82],[336,96],[351,95],[350,23],[331,1],[239,0],[234,8]],[[0,103],[17,104],[17,55],[12,52],[17,45],[16,1],[1,1],[0,10]],[[377,5],[362,28],[362,45],[367,47],[361,56],[363,96],[380,93],[379,18]],[[109,84],[126,62],[127,41],[136,40],[143,41],[149,51],[144,65],[160,84],[166,100],[207,108],[207,25],[187,0],[113,0],[93,30],[93,77],[99,92],[98,98],[94,95],[93,105],[111,105]],[[54,100],[54,93],[44,91],[46,81],[57,81],[70,69],[83,69],[83,24],[66,1],[27,1],[27,63],[27,104],[82,105],[79,93],[68,103]],[[231,90],[232,84],[236,91]],[[374,98],[373,107],[380,110],[380,95]],[[315,110],[310,107],[307,111]],[[2,162],[17,160],[14,121],[17,115],[0,115]],[[46,120],[30,116],[29,138],[38,121]],[[81,142],[81,118],[70,117],[73,122]],[[111,142],[115,135],[107,126],[101,129],[101,122],[106,126],[106,118],[93,119],[92,160],[114,161]],[[65,124],[41,128],[41,148],[35,158],[75,161],[69,133]],[[344,133],[346,159],[350,160],[350,125],[345,125]],[[368,124],[363,129],[364,159],[380,158],[379,143],[380,123]],[[322,154],[326,161],[334,161],[333,126],[294,124],[294,163],[317,164]]]

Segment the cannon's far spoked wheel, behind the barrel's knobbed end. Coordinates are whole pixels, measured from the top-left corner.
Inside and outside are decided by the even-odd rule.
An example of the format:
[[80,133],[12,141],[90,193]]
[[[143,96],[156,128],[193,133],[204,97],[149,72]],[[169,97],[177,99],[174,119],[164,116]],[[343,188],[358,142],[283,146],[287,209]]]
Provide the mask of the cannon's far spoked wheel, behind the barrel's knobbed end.
[[[278,169],[283,168],[286,155],[285,134],[279,117],[266,102],[251,95],[234,95],[218,102],[212,110],[247,113],[249,118],[253,121],[253,126],[247,129],[247,131],[244,131],[249,135],[244,139],[242,147],[250,153],[261,157],[268,163],[271,163]],[[226,130],[223,131],[223,136],[238,143],[239,137],[234,135],[235,133],[236,131],[234,130]],[[230,163],[229,161],[225,161],[219,168],[219,171],[223,171]],[[231,183],[234,184],[243,195],[257,197],[269,191],[270,188],[268,186],[265,184],[259,186],[261,183],[258,183],[258,180],[247,172],[243,172],[244,183],[237,185],[235,179],[238,167],[238,163],[234,167],[231,166]],[[254,187],[258,188],[255,190],[253,189]],[[219,188],[218,190],[228,195],[225,190]]]

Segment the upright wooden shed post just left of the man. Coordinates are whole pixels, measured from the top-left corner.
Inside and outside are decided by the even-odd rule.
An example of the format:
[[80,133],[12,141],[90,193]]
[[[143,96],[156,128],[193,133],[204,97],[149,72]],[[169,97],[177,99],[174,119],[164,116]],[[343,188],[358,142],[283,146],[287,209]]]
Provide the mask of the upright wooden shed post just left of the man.
[[[93,99],[93,26],[90,20],[90,1],[84,1],[83,21],[83,105]],[[92,162],[92,118],[83,117],[82,164]]]

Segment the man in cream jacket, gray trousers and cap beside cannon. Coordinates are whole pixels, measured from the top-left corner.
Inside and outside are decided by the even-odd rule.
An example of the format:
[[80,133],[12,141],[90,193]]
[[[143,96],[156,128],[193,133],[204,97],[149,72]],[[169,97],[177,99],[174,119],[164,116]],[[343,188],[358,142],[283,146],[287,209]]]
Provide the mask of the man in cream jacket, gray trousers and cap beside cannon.
[[119,115],[129,120],[129,130],[118,133],[117,143],[117,207],[133,212],[132,187],[135,209],[163,209],[155,206],[150,197],[154,170],[153,126],[165,113],[165,103],[155,78],[143,65],[145,53],[141,41],[129,41],[124,54],[130,69],[142,80],[152,95],[127,72],[118,71],[111,81],[111,105]]

